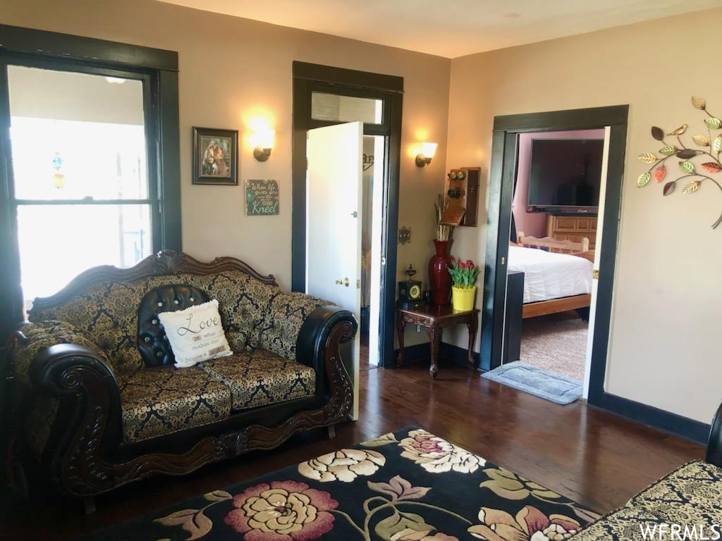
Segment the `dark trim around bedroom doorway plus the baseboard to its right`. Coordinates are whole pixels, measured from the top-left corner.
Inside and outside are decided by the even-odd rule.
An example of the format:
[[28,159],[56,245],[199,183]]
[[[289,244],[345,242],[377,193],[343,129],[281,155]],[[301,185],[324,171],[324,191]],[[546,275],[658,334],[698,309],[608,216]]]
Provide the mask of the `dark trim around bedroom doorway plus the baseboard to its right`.
[[596,294],[588,403],[695,441],[706,441],[709,425],[650,405],[612,395],[604,389],[609,327],[612,317],[614,266],[617,258],[622,177],[627,142],[628,105],[593,107],[547,113],[498,116],[494,119],[492,164],[489,178],[487,232],[482,308],[481,368],[500,366],[504,336],[506,260],[509,252],[511,201],[520,133],[584,130],[610,127],[604,224],[601,236],[599,282]]

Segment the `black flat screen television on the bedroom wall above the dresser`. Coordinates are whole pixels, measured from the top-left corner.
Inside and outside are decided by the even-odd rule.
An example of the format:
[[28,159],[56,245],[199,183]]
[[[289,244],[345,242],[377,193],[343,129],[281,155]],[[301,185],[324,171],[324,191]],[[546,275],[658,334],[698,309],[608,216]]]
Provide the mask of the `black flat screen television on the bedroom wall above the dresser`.
[[531,212],[599,211],[602,139],[532,139]]

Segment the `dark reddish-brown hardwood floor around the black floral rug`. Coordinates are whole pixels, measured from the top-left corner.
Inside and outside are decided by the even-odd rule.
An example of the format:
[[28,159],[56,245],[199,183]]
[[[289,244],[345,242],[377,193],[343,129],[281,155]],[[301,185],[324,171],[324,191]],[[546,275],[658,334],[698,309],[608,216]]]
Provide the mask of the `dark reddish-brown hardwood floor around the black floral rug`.
[[[271,452],[238,457],[184,478],[152,478],[97,498],[85,516],[77,501],[36,495],[0,496],[0,539],[66,539],[145,514],[248,478],[293,465],[372,436],[416,425],[604,512],[704,448],[583,403],[560,406],[441,364],[361,373],[361,418],[326,440],[312,431]],[[710,412],[711,415],[712,412]]]

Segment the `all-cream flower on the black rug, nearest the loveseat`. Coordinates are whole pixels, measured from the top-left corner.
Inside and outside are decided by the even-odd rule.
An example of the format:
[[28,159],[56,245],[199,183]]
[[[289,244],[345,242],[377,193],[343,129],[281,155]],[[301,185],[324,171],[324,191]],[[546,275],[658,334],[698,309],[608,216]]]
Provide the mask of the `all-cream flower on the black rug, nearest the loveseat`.
[[376,451],[341,449],[334,453],[301,462],[298,472],[305,478],[321,481],[351,483],[359,475],[373,475],[386,464],[386,457]]

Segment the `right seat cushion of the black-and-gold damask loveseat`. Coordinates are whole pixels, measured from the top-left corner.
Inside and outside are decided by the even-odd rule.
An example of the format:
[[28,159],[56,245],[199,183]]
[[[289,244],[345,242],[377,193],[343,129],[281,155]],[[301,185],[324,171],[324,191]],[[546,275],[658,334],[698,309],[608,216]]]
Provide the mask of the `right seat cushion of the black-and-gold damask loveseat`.
[[313,396],[316,391],[312,368],[261,349],[206,361],[197,368],[230,387],[233,410]]

